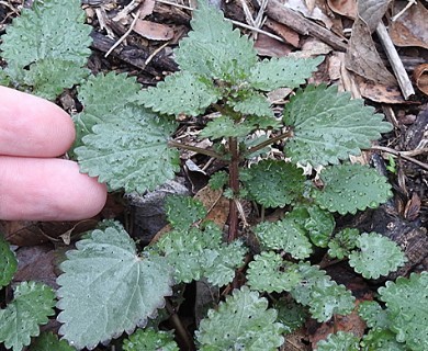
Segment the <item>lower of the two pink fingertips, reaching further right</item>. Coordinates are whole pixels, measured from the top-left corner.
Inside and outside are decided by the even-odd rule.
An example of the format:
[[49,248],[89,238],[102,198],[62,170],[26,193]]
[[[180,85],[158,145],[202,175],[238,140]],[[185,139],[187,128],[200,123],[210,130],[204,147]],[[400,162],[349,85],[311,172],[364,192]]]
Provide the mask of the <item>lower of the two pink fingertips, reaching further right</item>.
[[97,215],[106,188],[64,159],[0,157],[0,218],[78,220]]

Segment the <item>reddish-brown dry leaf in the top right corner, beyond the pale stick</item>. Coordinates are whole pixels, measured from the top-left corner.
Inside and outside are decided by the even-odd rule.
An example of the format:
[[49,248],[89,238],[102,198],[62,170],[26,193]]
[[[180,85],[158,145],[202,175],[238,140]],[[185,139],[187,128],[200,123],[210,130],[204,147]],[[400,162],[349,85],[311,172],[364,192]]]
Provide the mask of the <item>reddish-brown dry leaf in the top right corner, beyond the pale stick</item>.
[[[398,13],[407,1],[395,1],[393,14]],[[395,22],[390,23],[390,35],[397,46],[428,48],[428,10],[418,1],[408,8]]]

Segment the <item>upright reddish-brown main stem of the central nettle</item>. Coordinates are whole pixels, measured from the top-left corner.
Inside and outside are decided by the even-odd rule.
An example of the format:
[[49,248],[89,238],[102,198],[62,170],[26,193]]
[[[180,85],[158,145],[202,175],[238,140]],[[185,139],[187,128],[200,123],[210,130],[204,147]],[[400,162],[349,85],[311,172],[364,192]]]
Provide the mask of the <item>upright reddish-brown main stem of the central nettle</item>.
[[[238,138],[229,137],[229,186],[234,194],[234,197],[239,194],[239,150]],[[238,236],[238,207],[236,206],[235,199],[229,201],[229,231],[227,236],[227,242],[232,242]]]

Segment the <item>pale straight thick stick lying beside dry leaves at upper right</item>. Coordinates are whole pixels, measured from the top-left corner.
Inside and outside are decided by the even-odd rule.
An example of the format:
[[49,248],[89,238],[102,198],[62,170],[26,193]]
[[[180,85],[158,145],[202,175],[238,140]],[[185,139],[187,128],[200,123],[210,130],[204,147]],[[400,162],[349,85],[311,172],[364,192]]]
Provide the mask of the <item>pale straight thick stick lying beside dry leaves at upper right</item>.
[[382,22],[379,23],[376,27],[376,33],[379,39],[383,45],[383,48],[385,49],[391,67],[398,81],[399,88],[402,89],[403,97],[405,100],[407,100],[410,95],[415,94],[415,90],[413,89],[412,81],[407,76],[406,69],[404,68],[403,63],[399,59],[398,53],[395,49],[395,46],[390,35],[387,34],[386,27]]

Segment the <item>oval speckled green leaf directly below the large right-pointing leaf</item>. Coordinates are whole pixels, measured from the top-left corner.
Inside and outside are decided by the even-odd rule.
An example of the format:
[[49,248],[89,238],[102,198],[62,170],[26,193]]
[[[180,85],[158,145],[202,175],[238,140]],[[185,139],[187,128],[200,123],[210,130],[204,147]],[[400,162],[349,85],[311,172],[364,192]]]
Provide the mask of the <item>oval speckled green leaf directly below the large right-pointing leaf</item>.
[[387,179],[375,169],[361,165],[327,167],[320,173],[324,189],[313,189],[312,197],[322,208],[356,214],[358,210],[376,208],[393,194]]

